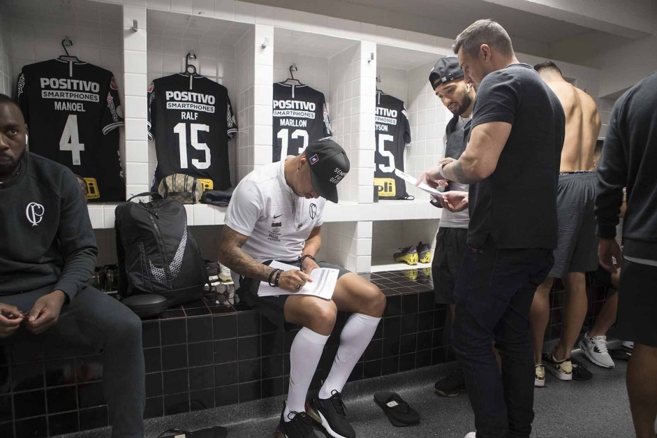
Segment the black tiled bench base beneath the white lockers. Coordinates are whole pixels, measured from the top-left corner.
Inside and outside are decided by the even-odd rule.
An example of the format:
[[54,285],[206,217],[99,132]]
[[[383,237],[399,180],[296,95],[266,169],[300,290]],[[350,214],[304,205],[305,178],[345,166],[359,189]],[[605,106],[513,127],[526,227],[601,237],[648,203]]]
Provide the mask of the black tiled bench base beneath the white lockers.
[[[349,380],[380,377],[454,360],[448,307],[434,305],[426,273],[367,275],[387,297],[383,321]],[[550,298],[546,339],[559,337],[563,286]],[[589,288],[584,326],[591,326],[605,290]],[[339,314],[313,387],[330,371],[346,322]],[[286,392],[289,351],[298,329],[286,333],[244,305],[219,306],[212,296],[142,323],[146,364],[145,418],[226,406]],[[38,344],[0,344],[0,437],[47,437],[108,425],[101,356],[57,358]],[[44,357],[45,354],[45,357]]]

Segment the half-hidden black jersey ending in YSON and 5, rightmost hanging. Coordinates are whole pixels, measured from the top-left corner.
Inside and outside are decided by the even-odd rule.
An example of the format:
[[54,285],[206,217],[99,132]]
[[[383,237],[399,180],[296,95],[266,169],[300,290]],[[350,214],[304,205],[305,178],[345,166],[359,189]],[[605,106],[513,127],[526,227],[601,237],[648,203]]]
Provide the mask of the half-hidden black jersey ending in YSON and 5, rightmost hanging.
[[411,144],[411,126],[404,102],[383,92],[376,93],[376,152],[374,185],[380,199],[404,199],[406,182],[394,169],[404,170],[404,150]]

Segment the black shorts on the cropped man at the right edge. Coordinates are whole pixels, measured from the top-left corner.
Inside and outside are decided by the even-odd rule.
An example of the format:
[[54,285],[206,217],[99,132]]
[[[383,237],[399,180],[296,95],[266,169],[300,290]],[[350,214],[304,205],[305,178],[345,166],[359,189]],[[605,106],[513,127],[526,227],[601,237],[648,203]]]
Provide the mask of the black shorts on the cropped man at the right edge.
[[657,347],[657,266],[623,259],[619,289],[617,336]]

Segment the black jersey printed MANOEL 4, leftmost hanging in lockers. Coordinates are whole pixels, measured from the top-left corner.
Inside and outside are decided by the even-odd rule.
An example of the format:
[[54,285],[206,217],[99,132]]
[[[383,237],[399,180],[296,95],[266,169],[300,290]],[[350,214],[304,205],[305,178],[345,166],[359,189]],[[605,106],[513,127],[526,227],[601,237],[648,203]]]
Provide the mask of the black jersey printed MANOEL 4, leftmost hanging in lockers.
[[30,152],[64,164],[87,182],[91,202],[125,200],[115,128],[124,124],[112,72],[81,61],[23,66],[16,99]]

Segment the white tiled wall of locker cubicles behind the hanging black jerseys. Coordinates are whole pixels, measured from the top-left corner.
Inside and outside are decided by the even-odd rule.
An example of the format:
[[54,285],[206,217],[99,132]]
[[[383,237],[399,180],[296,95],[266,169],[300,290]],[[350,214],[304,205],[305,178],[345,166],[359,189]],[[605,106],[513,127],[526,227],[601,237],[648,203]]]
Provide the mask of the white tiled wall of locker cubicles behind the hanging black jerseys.
[[[272,83],[285,80],[296,63],[295,77],[325,94],[334,136],[352,165],[339,185],[341,205],[327,214],[320,256],[365,272],[372,263],[392,261],[398,247],[433,244],[440,212],[427,206],[424,194],[411,188],[417,202],[371,203],[375,77],[380,75],[383,91],[406,102],[413,137],[406,170],[417,176],[443,155],[451,114],[427,75],[436,59],[451,54],[447,38],[234,0],[3,0],[2,6],[0,91],[13,92],[22,65],[62,54],[59,42],[66,35],[74,43],[72,54],[115,73],[125,94],[128,194],[149,189],[155,165],[145,128],[150,80],[182,71],[184,54],[193,50],[199,72],[228,88],[239,125],[237,140],[229,144],[235,183],[270,161]],[[135,19],[138,31],[131,29]],[[518,57],[532,65],[545,61]],[[598,99],[600,72],[557,64],[596,98],[605,136],[613,102]],[[223,223],[223,210],[213,208],[189,206],[189,223]],[[110,205],[89,212],[95,226],[112,227]],[[218,228],[211,228],[208,239],[216,239]]]

